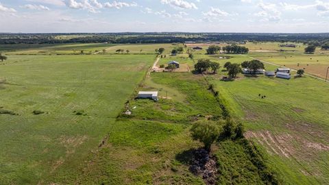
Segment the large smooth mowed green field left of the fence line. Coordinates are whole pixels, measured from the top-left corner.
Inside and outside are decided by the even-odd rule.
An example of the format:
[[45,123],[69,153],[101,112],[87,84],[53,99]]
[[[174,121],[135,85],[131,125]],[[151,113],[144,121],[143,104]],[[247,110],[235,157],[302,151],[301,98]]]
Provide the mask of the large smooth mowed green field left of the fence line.
[[[155,60],[153,55],[7,56],[0,67],[0,184],[73,177]],[[8,111],[12,114],[3,113]]]

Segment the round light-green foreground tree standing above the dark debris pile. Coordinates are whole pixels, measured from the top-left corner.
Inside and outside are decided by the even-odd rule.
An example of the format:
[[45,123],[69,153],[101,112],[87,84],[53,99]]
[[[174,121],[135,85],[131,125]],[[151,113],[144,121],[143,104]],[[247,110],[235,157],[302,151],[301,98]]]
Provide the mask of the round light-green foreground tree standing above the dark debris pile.
[[204,148],[210,151],[212,143],[219,137],[220,130],[216,123],[204,121],[194,123],[191,127],[193,140],[199,140],[204,143]]

